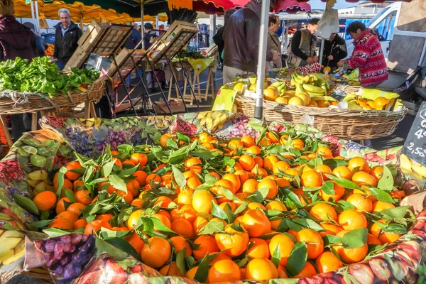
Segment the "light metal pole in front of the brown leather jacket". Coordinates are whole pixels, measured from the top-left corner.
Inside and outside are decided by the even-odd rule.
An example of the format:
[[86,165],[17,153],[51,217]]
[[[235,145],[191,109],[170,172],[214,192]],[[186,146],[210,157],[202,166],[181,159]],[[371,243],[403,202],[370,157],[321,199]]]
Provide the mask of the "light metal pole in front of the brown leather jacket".
[[269,16],[269,0],[262,1],[261,28],[259,30],[259,53],[258,53],[258,70],[256,82],[256,107],[254,107],[254,117],[262,119],[263,116],[263,83],[265,82],[265,66],[266,66],[266,48],[268,42],[268,16]]

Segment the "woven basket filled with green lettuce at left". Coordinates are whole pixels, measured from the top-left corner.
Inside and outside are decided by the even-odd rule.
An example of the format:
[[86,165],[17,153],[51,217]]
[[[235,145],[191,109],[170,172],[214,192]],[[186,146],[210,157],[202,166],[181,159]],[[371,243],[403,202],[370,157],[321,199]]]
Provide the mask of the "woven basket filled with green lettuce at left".
[[57,94],[52,99],[44,94],[24,96],[16,92],[13,94],[13,99],[0,99],[0,114],[23,114],[26,112],[72,108],[83,102],[98,102],[107,87],[106,78],[102,77],[94,81],[92,86],[87,89],[87,92],[76,89],[68,92],[68,94]]

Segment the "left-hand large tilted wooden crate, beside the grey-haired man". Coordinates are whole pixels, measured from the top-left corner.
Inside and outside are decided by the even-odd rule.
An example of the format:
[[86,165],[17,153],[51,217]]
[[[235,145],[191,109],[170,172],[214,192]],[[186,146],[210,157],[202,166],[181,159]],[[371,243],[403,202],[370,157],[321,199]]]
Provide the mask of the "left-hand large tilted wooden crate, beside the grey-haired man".
[[68,60],[64,70],[69,71],[73,67],[81,68],[90,53],[111,58],[124,45],[131,29],[132,26],[128,25],[92,21],[78,41],[79,47]]

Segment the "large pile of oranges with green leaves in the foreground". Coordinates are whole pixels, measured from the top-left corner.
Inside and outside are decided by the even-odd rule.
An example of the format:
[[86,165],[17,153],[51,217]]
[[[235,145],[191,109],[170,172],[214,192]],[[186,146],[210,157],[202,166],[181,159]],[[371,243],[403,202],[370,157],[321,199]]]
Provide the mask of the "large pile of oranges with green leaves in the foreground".
[[[199,146],[173,166],[161,163],[149,148],[131,155],[113,151],[114,173],[138,167],[125,179],[127,192],[106,180],[87,189],[75,170],[82,165],[72,162],[61,198],[46,191],[33,201],[40,211],[55,210],[50,227],[84,234],[101,228],[128,232],[124,238],[143,263],[163,275],[209,283],[312,277],[362,261],[374,245],[401,236],[386,231],[389,222],[381,212],[398,206],[405,194],[393,187],[380,190],[392,202],[377,200],[374,193],[387,168],[370,168],[364,158],[345,161],[321,141],[286,133],[268,132],[258,143],[250,136],[221,143],[208,133],[187,141],[165,134],[160,139],[165,155],[177,151],[165,148],[173,144],[169,139],[178,148],[193,141]],[[219,153],[206,156],[209,152]],[[119,205],[84,219],[85,208],[99,202],[101,193],[116,196]],[[125,217],[117,224],[119,214]],[[143,218],[155,219],[153,231]],[[356,231],[364,232],[365,243],[344,246],[344,235]],[[305,253],[296,256],[300,251]]]

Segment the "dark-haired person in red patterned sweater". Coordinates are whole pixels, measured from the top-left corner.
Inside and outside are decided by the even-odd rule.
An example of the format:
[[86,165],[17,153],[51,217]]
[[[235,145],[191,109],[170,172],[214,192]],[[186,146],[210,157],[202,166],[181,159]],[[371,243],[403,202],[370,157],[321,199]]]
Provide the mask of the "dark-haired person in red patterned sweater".
[[346,28],[346,34],[354,39],[354,52],[349,60],[341,60],[351,68],[359,68],[359,80],[362,87],[373,88],[388,80],[388,67],[376,33],[366,28],[364,23],[355,21]]

